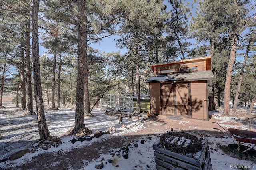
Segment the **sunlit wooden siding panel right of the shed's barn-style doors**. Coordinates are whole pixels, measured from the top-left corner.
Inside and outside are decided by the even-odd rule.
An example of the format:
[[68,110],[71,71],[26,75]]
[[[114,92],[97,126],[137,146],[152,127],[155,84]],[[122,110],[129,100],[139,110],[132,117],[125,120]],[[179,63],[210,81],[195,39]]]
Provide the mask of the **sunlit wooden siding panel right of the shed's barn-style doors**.
[[[206,81],[191,82],[192,118],[208,119],[207,115],[207,83]],[[199,110],[198,110],[199,109]]]

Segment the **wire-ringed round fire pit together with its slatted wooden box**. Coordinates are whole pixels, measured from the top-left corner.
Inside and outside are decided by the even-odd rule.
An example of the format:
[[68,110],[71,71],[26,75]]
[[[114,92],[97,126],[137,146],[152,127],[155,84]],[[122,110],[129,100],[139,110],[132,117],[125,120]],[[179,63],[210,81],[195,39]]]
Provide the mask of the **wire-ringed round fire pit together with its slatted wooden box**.
[[199,134],[168,131],[153,145],[157,170],[211,170],[208,140]]

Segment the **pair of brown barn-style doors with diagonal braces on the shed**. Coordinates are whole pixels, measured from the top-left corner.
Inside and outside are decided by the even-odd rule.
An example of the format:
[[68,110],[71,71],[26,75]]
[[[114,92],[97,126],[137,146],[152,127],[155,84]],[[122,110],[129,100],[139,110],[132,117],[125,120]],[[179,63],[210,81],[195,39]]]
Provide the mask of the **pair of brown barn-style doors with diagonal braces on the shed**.
[[190,117],[191,97],[189,83],[161,84],[161,113]]

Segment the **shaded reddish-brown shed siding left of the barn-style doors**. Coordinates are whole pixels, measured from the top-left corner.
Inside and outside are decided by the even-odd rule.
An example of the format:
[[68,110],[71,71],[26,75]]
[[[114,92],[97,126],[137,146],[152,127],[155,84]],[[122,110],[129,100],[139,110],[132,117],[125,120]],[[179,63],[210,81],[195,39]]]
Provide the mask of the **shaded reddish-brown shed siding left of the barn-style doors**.
[[150,113],[160,114],[161,103],[160,103],[160,83],[150,83]]

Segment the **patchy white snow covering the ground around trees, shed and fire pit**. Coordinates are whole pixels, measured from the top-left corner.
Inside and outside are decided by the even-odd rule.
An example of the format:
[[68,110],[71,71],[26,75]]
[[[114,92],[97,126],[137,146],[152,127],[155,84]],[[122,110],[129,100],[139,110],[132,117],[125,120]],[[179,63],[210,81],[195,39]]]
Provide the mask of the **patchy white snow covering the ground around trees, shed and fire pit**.
[[[36,116],[23,116],[23,112],[16,112],[15,107],[7,107],[0,110],[0,158],[1,160],[4,158],[9,158],[11,154],[17,152],[18,150],[22,150],[28,148],[28,145],[39,138],[38,135],[38,126],[36,121]],[[47,109],[46,109],[47,110]],[[47,125],[50,130],[51,136],[62,136],[68,130],[74,127],[74,116],[75,116],[74,108],[60,108],[59,111],[46,111],[45,116],[47,120]],[[86,144],[82,142],[76,142],[71,144],[70,140],[74,138],[74,136],[62,136],[61,141],[62,144],[58,148],[50,148],[49,150],[39,150],[35,153],[27,153],[22,158],[16,159],[12,161],[12,166],[16,166],[18,164],[24,164],[28,160],[32,160],[32,157],[42,154],[44,152],[55,152],[59,150],[71,150],[72,148],[79,148],[85,145],[90,145],[92,142],[97,140],[101,140],[102,138],[111,138],[112,136],[123,135],[129,130],[120,128],[120,124],[118,124],[117,117],[108,116],[104,114],[104,111],[100,111],[100,109],[94,109],[92,114],[95,117],[85,117],[84,122],[86,123],[86,127],[92,130],[93,132],[96,130],[106,131],[107,128],[113,126],[116,128],[117,132],[114,135],[106,134],[101,136],[99,139],[93,138],[91,141],[87,141]],[[146,115],[140,117],[143,119]],[[228,128],[240,128],[244,130],[248,130],[248,125],[240,125],[239,127],[236,125],[229,125],[227,122],[231,122],[236,124],[237,117],[232,116],[223,116],[220,113],[214,114],[214,119],[218,120],[222,126]],[[138,120],[135,117],[123,117],[122,121],[125,125],[136,125],[132,128],[132,131],[140,131],[144,130],[146,127],[141,123],[138,123]],[[186,129],[196,129],[197,125],[191,126],[191,122],[188,121],[180,121]],[[154,122],[153,124],[161,124],[161,122]],[[255,130],[255,125],[253,125]],[[150,138],[147,138],[150,137]],[[235,170],[237,169],[236,165],[240,166],[250,166],[251,169],[256,169],[255,161],[252,160],[242,160],[239,158],[231,157],[229,154],[223,153],[220,150],[219,145],[227,146],[228,144],[233,143],[232,138],[223,137],[216,138],[214,136],[206,137],[208,139],[208,144],[210,144],[210,148],[213,150],[218,148],[218,151],[214,151],[210,153],[211,163],[213,170]],[[145,141],[144,144],[141,144],[138,141],[139,147],[131,147],[129,150],[129,159],[124,159],[122,156],[119,158],[118,156],[112,157],[110,154],[101,155],[100,158],[92,161],[86,162],[84,161],[84,167],[81,170],[94,170],[95,164],[99,161],[104,163],[103,170],[155,170],[155,162],[154,162],[154,150],[152,145],[159,139],[159,135],[150,135],[144,136],[142,139]],[[132,143],[131,143],[132,144]],[[115,150],[114,150],[115,151]],[[114,162],[107,163],[108,159],[114,160]],[[8,164],[10,160],[6,162],[0,163],[0,168],[10,168],[10,164]],[[116,167],[116,166],[119,167]],[[232,165],[233,168],[231,167]],[[72,168],[68,168],[72,170]],[[240,168],[241,169],[241,168]],[[250,168],[249,168],[250,169]]]

